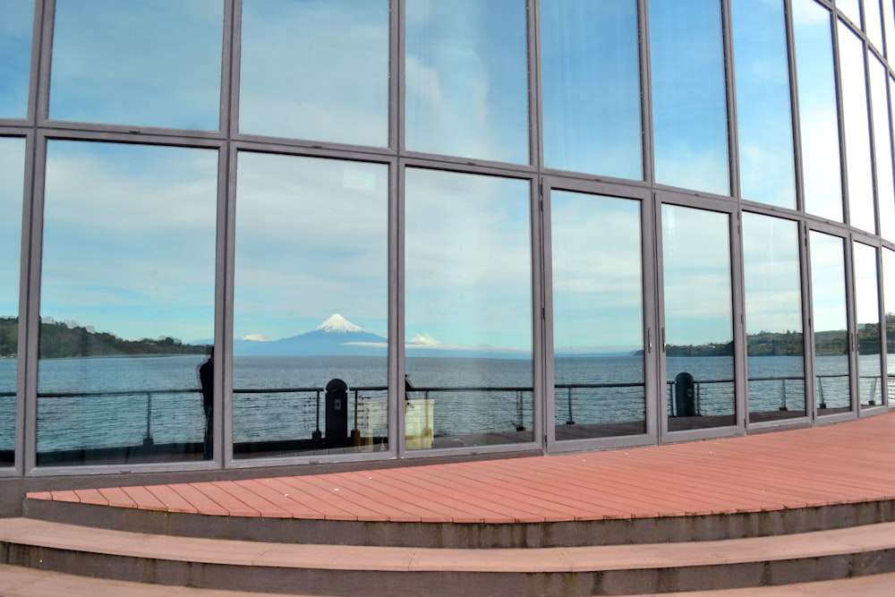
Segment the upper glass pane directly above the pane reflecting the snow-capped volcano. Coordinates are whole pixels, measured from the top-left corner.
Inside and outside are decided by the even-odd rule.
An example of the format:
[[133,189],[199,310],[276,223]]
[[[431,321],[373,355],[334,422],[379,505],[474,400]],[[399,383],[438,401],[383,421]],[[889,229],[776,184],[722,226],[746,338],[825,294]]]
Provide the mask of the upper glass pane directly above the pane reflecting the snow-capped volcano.
[[388,145],[388,0],[243,0],[239,130]]

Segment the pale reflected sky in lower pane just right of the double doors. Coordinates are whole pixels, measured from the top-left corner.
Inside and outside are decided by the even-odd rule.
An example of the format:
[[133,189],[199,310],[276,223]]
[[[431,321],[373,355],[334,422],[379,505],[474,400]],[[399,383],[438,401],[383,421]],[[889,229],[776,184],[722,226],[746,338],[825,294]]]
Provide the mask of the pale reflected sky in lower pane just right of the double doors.
[[746,334],[802,331],[795,222],[743,214]]

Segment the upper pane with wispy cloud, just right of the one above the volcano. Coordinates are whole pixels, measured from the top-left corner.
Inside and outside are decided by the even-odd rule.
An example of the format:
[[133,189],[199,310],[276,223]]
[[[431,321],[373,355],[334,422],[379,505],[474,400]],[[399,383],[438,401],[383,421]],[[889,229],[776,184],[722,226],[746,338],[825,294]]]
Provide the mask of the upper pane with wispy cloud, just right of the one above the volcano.
[[406,147],[529,162],[524,0],[406,6]]

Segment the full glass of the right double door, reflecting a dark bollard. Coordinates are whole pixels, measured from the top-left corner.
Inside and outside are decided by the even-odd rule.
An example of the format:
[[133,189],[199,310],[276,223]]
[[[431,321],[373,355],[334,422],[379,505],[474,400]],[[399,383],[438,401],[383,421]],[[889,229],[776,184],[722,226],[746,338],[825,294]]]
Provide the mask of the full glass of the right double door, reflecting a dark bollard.
[[668,430],[735,424],[727,214],[662,205]]

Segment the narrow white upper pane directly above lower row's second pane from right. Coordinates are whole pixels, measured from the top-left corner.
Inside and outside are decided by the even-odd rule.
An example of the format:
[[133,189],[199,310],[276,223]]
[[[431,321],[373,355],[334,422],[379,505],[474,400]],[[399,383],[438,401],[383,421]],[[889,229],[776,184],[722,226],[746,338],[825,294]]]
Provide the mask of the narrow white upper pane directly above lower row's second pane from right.
[[870,160],[870,119],[864,76],[864,44],[840,21],[842,117],[845,122],[850,224],[876,232],[874,173]]

